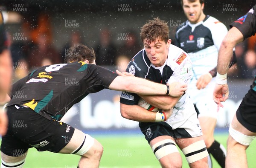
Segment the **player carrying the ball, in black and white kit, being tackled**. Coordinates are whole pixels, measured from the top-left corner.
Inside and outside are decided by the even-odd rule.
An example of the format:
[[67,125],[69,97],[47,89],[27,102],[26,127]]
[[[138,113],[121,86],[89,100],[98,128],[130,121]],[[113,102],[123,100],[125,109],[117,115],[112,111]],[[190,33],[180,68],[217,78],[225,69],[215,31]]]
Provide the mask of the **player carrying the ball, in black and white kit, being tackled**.
[[[129,63],[126,72],[162,84],[173,82],[188,83],[191,75],[191,61],[182,49],[171,44],[169,27],[159,18],[148,20],[141,28],[144,49],[137,53]],[[141,95],[122,93],[120,99],[121,115],[139,122],[152,151],[163,168],[180,168],[182,159],[177,146],[192,168],[206,168],[207,149],[192,100],[187,94],[180,97],[141,96],[145,101],[163,111],[157,113],[140,107]],[[171,117],[166,111],[173,108]],[[163,116],[159,118],[159,115]]]

